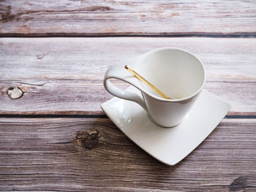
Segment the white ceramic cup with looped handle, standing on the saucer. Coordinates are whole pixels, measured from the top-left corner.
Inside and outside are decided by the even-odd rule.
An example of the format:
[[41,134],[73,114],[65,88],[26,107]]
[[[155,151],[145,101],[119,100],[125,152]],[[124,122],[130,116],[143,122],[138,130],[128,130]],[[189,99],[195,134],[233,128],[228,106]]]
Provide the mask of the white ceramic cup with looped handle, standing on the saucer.
[[[124,66],[128,65],[160,91],[174,99],[164,99],[140,82]],[[140,93],[116,88],[110,79],[124,80]],[[135,101],[159,126],[177,126],[195,103],[206,81],[202,62],[185,50],[165,47],[111,66],[105,74],[106,90],[121,99]]]

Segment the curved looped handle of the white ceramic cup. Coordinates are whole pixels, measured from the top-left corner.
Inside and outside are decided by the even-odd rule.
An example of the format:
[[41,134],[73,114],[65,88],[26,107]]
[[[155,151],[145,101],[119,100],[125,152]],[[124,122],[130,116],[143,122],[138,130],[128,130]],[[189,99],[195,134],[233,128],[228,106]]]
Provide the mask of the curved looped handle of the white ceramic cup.
[[[122,90],[121,88],[117,88],[115,85],[113,85],[112,82],[110,82],[110,79],[118,79],[124,82],[128,82],[130,85],[133,85],[132,82],[129,82],[129,80],[126,80],[126,78],[129,76],[130,74],[125,71],[124,65],[110,67],[110,69],[108,69],[104,77],[105,89],[113,96],[116,96],[121,99],[126,99],[129,101],[135,101],[141,107],[143,107],[144,110],[148,111],[146,107],[146,103],[143,100],[142,96],[140,96],[137,93],[132,93],[131,91],[126,91],[126,90]],[[135,87],[138,88],[137,86]]]

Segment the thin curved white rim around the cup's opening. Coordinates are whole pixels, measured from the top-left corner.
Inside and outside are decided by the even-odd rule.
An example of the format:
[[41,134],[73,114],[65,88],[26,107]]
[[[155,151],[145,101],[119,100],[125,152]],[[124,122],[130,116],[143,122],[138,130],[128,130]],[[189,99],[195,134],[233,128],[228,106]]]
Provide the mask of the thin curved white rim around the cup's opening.
[[178,51],[181,51],[183,53],[187,53],[189,55],[191,55],[193,58],[195,58],[199,64],[202,66],[203,68],[203,83],[202,85],[200,86],[200,88],[195,91],[195,93],[193,93],[192,95],[190,96],[187,96],[187,97],[184,97],[182,99],[165,99],[165,98],[161,98],[161,97],[158,97],[158,96],[154,96],[152,93],[149,93],[148,91],[142,91],[143,93],[146,93],[148,96],[150,96],[152,99],[156,99],[158,101],[165,101],[165,102],[180,102],[180,101],[186,101],[186,100],[189,100],[189,99],[192,99],[193,97],[195,97],[198,93],[200,93],[200,91],[202,91],[203,89],[203,86],[205,85],[206,83],[206,69],[205,69],[205,66],[203,65],[203,62],[200,60],[200,58],[197,58],[197,56],[195,56],[193,53],[187,51],[187,50],[184,50],[184,49],[181,49],[181,48],[177,48],[177,47],[160,47],[160,48],[157,48],[157,49],[154,49],[154,50],[150,50],[148,51],[147,53],[144,53],[143,54],[143,57],[145,57],[146,55],[149,55],[149,54],[152,54],[152,53],[156,53],[156,52],[159,52],[161,50],[178,50]]

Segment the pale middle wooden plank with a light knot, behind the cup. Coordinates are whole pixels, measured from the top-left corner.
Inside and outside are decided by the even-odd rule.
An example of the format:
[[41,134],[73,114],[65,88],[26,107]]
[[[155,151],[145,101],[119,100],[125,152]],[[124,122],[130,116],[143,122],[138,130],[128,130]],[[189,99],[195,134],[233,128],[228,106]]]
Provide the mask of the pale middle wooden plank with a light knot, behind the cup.
[[[1,38],[1,114],[102,115],[112,96],[109,66],[157,47],[181,47],[206,66],[205,88],[230,102],[229,115],[256,115],[256,39]],[[123,82],[118,82],[123,85]],[[20,99],[8,90],[18,86]]]

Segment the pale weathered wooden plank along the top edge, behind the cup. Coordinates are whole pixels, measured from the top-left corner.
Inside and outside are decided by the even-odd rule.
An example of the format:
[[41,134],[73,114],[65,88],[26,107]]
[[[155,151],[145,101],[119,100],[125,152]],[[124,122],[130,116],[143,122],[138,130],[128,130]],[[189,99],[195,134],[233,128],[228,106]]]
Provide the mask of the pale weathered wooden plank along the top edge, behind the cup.
[[1,1],[1,36],[256,33],[255,1]]

